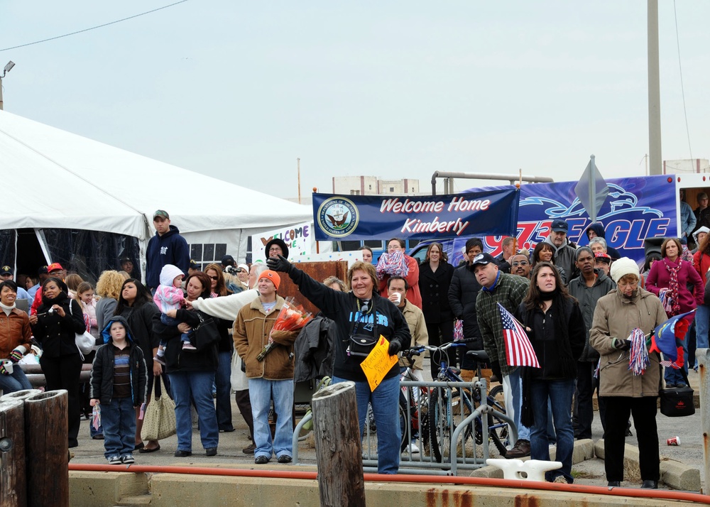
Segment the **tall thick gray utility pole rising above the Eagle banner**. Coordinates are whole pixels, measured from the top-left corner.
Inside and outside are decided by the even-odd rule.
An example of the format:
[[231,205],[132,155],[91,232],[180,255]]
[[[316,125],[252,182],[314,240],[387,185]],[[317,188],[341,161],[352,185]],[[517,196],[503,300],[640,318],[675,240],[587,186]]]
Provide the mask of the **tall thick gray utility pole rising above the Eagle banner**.
[[663,174],[661,91],[658,65],[658,0],[648,0],[648,153],[649,174]]

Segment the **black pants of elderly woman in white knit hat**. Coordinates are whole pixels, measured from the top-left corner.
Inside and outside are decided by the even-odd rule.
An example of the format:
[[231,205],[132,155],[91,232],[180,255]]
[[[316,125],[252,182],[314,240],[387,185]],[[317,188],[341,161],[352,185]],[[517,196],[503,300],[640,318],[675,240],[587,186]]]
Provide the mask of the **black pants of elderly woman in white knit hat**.
[[604,432],[604,468],[607,481],[623,481],[623,452],[629,414],[638,438],[638,464],[641,480],[660,479],[658,432],[656,429],[656,396],[628,398],[606,397],[606,430]]

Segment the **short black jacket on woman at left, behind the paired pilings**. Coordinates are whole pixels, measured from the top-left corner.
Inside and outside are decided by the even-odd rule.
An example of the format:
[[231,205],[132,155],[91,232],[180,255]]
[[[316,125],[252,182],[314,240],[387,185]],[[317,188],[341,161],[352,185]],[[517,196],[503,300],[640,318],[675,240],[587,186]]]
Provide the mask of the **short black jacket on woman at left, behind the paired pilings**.
[[[60,317],[57,312],[49,313],[53,305],[60,305],[64,309],[64,317]],[[37,323],[32,326],[32,333],[42,345],[42,354],[47,357],[78,355],[76,335],[86,330],[79,303],[69,299],[63,292],[53,300],[42,301],[37,310]]]

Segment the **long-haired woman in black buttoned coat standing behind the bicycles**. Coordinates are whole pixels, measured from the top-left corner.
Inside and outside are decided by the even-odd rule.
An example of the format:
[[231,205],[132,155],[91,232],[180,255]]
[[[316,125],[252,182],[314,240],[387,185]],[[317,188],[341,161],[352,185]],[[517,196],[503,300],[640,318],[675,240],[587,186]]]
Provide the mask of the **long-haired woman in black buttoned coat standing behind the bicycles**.
[[[419,292],[422,312],[427,323],[429,344],[435,347],[454,339],[454,313],[449,307],[449,285],[454,266],[440,243],[432,243],[419,266]],[[449,360],[449,364],[452,361]],[[437,378],[439,365],[432,361],[432,378]]]

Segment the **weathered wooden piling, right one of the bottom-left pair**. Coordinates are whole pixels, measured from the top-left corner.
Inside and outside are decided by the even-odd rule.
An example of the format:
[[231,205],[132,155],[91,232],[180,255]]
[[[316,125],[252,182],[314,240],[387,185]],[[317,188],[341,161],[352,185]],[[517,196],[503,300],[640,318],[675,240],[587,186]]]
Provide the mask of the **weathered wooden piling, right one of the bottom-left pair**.
[[65,389],[24,400],[30,506],[69,506],[68,400]]

